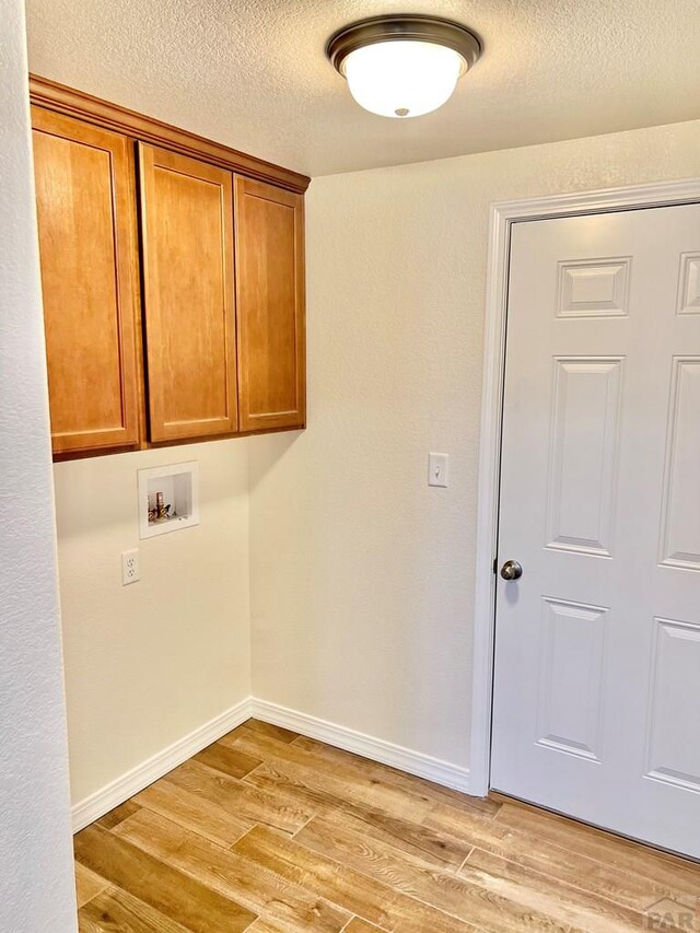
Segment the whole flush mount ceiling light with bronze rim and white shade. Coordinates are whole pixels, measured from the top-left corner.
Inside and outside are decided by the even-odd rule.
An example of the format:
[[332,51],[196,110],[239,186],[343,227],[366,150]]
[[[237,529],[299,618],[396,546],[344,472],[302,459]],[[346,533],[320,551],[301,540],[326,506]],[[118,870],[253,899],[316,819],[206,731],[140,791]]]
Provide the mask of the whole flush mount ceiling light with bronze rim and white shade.
[[358,104],[383,117],[419,117],[450,98],[479,57],[465,26],[434,16],[375,16],[330,37],[326,55]]

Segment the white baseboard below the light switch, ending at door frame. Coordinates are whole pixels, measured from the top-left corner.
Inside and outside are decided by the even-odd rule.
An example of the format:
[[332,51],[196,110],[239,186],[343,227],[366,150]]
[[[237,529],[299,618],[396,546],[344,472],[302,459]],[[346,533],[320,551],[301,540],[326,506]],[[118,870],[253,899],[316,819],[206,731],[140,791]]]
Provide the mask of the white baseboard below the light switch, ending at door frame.
[[298,713],[277,703],[269,703],[267,700],[253,698],[250,715],[272,725],[299,732],[308,738],[316,738],[319,742],[334,745],[336,748],[342,748],[345,751],[352,751],[354,755],[370,758],[372,761],[389,765],[399,771],[407,771],[409,774],[425,778],[435,784],[453,788],[465,794],[469,793],[468,768],[451,765],[440,758],[432,758],[421,751],[412,751],[401,745],[394,745],[382,738],[374,738],[371,735],[364,735],[364,733],[355,732],[346,726],[335,725],[306,713]]

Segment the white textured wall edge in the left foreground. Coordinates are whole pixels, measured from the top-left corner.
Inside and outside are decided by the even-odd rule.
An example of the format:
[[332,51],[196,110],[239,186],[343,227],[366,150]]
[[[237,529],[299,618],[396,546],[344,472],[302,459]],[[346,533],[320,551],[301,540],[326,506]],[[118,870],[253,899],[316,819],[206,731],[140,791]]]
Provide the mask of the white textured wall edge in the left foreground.
[[24,4],[0,26],[0,929],[75,930]]

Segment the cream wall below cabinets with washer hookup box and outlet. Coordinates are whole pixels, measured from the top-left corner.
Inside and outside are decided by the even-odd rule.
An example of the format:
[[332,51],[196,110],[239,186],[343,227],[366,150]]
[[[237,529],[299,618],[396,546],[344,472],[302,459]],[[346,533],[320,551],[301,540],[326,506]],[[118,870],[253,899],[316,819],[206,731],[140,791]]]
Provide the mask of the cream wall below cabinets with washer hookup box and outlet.
[[[74,804],[250,692],[247,443],[54,468]],[[137,470],[192,459],[200,524],[139,540]]]

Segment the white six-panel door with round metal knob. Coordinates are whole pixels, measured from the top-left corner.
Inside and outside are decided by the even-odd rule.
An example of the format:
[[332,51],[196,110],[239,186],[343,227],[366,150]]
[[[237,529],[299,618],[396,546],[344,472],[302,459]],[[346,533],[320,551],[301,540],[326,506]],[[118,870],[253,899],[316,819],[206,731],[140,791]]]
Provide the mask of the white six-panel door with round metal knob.
[[700,858],[700,206],[516,223],[491,785]]

